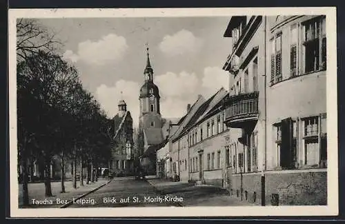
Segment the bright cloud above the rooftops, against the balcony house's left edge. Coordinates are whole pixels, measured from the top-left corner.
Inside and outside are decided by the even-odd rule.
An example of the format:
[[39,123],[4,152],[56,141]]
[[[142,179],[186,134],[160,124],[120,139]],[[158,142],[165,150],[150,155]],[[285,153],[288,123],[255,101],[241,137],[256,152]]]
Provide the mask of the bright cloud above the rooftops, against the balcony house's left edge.
[[201,86],[204,88],[204,96],[209,97],[215,94],[221,87],[228,91],[228,72],[218,67],[204,68],[204,77]]

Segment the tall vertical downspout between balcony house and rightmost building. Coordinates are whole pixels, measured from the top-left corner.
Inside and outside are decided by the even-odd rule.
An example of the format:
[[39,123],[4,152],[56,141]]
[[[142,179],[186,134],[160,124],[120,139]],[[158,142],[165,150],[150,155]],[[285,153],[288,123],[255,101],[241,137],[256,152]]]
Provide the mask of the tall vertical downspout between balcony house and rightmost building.
[[267,17],[265,16],[265,30],[264,30],[264,45],[265,45],[265,63],[264,63],[264,110],[265,110],[265,138],[264,138],[264,158],[263,158],[263,165],[262,165],[262,172],[261,172],[261,182],[262,182],[262,192],[261,192],[261,205],[266,205],[266,179],[265,179],[265,170],[266,170],[266,150],[267,150]]

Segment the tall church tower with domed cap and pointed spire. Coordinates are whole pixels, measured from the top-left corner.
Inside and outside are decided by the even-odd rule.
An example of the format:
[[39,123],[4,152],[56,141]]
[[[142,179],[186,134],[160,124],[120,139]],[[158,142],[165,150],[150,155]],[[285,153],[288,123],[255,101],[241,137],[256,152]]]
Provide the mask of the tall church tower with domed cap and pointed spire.
[[144,85],[141,86],[139,103],[139,129],[161,128],[161,112],[159,108],[159,90],[153,82],[153,69],[147,50],[146,68],[144,70]]

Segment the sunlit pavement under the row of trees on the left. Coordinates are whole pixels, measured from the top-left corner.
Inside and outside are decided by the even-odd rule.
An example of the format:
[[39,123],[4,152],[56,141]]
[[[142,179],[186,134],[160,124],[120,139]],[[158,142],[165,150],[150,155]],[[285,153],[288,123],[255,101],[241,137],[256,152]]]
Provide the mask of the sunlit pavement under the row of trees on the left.
[[[66,193],[61,193],[61,182],[52,182],[52,195],[50,197],[44,196],[45,194],[45,186],[44,183],[29,183],[28,184],[28,191],[29,191],[29,203],[30,205],[26,206],[28,208],[46,208],[46,207],[61,207],[65,201],[70,201],[72,198],[78,198],[79,196],[82,196],[83,194],[86,194],[97,187],[101,187],[102,185],[105,185],[108,183],[109,179],[98,179],[95,183],[86,184],[86,181],[84,181],[84,185],[80,186],[79,181],[77,181],[77,189],[72,187],[72,181],[66,181],[65,182],[65,191]],[[52,204],[34,204],[33,201],[51,201]],[[46,200],[45,200],[46,199]],[[18,200],[19,200],[19,207],[20,208],[26,208],[23,206],[23,198],[22,198],[22,185],[19,185],[19,194],[18,194]],[[57,201],[60,201],[60,204],[57,204]]]

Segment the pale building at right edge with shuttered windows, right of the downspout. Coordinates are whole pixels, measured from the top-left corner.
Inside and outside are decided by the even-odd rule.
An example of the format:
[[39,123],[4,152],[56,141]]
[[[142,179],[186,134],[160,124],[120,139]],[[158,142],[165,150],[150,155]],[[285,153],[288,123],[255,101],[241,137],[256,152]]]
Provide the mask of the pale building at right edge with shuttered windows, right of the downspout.
[[326,17],[267,19],[266,196],[326,205]]

